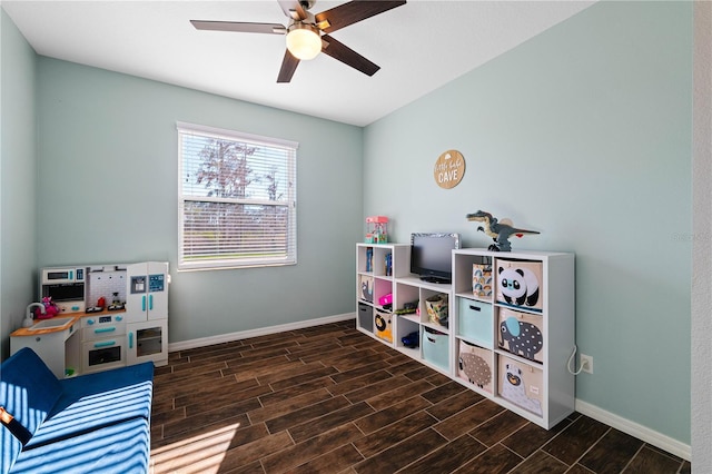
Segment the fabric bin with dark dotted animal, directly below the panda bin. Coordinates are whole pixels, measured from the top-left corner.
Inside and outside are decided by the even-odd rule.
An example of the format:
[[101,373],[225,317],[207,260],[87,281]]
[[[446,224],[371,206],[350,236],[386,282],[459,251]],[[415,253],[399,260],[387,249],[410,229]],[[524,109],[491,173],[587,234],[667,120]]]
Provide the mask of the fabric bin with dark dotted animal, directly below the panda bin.
[[512,354],[544,362],[543,317],[513,309],[500,308],[497,345]]

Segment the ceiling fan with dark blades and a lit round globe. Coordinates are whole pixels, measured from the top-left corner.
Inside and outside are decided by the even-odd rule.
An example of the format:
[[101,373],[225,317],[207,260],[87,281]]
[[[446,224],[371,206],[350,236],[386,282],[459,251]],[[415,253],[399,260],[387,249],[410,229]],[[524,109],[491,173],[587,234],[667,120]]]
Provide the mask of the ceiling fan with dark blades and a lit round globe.
[[277,0],[289,18],[287,27],[279,23],[251,23],[239,21],[190,20],[198,30],[236,31],[246,33],[286,34],[287,49],[277,76],[277,82],[289,82],[300,60],[315,58],[325,52],[332,58],[362,71],[367,76],[376,73],[379,66],[364,58],[353,49],[332,38],[329,33],[349,24],[383,13],[405,4],[400,1],[362,0],[349,1],[320,13],[308,11],[316,0]]

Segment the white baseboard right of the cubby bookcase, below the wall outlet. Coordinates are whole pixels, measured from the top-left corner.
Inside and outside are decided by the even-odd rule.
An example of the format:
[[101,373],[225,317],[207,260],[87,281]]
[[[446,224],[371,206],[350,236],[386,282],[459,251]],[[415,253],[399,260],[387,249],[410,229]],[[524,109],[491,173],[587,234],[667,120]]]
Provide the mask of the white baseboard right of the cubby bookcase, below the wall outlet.
[[611,412],[606,412],[603,408],[599,408],[597,406],[580,401],[578,398],[576,398],[575,409],[582,415],[586,415],[601,423],[605,423],[606,425],[622,431],[625,434],[635,436],[645,443],[660,447],[670,454],[674,454],[685,461],[692,460],[692,448],[689,444],[681,443],[678,440],[673,440],[670,436],[665,436],[664,434],[657,433],[656,431],[643,425],[639,425],[635,422],[631,422],[630,419],[623,418],[622,416],[615,415]]

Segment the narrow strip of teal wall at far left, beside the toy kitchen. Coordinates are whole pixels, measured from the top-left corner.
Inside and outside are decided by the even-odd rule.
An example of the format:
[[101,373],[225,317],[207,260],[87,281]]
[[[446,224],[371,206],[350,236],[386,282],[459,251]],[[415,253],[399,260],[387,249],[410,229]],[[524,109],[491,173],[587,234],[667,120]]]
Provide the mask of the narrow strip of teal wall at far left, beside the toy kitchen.
[[0,9],[0,356],[37,293],[34,51]]

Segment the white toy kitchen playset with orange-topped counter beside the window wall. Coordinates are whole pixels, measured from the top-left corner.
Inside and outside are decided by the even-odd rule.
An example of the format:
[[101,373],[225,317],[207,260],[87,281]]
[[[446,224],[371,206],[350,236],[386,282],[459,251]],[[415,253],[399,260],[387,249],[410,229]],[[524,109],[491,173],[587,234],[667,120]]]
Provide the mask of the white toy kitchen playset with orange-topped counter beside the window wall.
[[59,378],[168,363],[168,263],[42,268],[39,280],[11,354],[32,348]]

